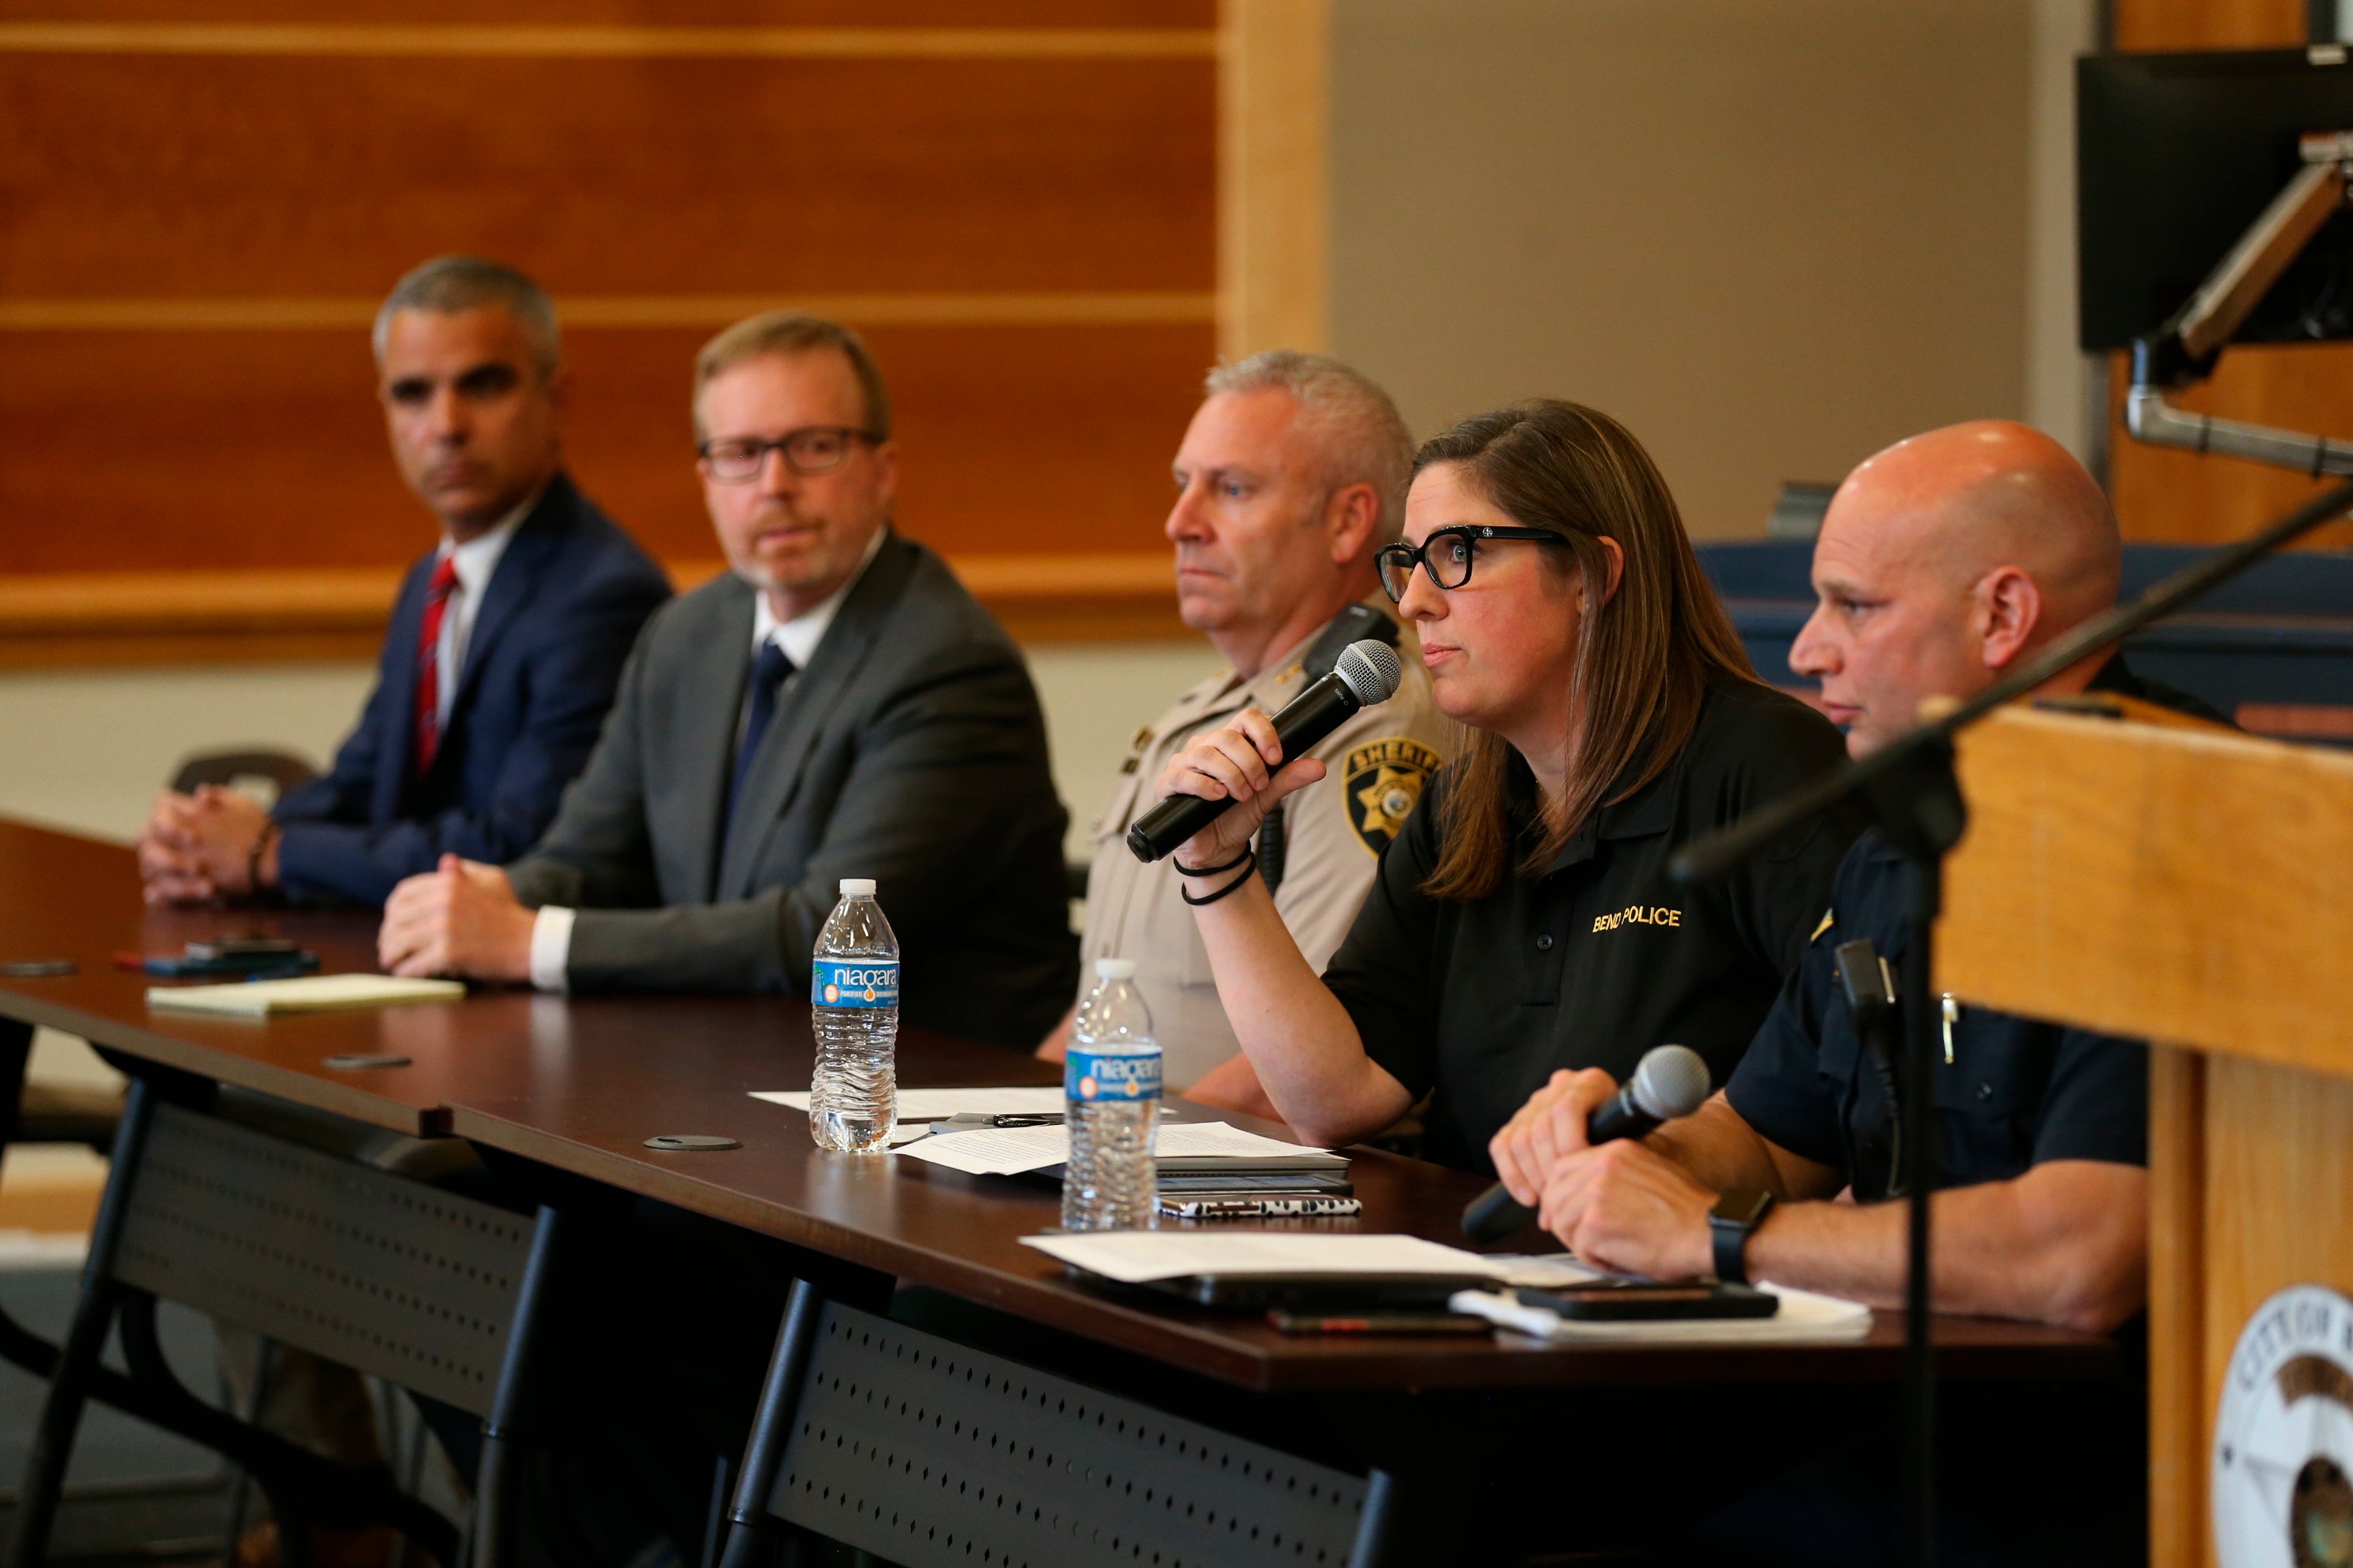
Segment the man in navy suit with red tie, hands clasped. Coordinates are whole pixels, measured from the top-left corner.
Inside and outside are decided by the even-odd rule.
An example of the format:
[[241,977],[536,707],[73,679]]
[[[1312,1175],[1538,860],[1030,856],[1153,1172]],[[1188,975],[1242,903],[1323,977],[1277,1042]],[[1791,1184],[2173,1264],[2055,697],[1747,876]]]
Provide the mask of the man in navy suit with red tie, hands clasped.
[[376,689],[334,769],[273,811],[167,792],[139,839],[148,903],[379,905],[442,853],[513,860],[588,762],[621,663],[671,597],[562,470],[555,306],[522,273],[426,261],[376,313],[393,458],[442,524],[400,585]]

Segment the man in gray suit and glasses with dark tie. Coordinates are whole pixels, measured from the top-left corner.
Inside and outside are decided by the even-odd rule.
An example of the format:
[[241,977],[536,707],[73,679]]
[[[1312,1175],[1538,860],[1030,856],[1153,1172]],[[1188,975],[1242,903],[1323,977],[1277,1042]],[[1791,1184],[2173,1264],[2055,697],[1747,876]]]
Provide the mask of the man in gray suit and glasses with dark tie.
[[673,599],[588,771],[508,867],[445,856],[384,910],[402,976],[784,990],[873,877],[904,1018],[1031,1046],[1078,980],[1064,809],[1021,654],[889,529],[889,395],[856,334],[769,313],[694,364],[704,501],[734,574]]

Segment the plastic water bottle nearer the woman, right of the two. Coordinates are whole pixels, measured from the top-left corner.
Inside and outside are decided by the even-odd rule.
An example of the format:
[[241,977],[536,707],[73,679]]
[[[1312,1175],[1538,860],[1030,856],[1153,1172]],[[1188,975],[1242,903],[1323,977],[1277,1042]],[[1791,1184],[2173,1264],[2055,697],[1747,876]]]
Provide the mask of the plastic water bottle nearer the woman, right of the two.
[[1136,992],[1132,959],[1096,959],[1096,985],[1071,1020],[1061,1091],[1071,1164],[1061,1175],[1064,1229],[1160,1225],[1160,1041]]

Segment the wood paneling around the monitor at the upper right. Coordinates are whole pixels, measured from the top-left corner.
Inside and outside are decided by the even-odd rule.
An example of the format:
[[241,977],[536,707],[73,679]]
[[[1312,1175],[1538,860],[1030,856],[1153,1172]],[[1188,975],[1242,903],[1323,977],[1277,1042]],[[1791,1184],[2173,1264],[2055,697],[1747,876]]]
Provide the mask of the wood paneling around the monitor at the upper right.
[[[2118,49],[2280,49],[2306,42],[2304,0],[2113,0]],[[2129,367],[2108,369],[2108,494],[2125,538],[2214,543],[2254,534],[2318,489],[2278,468],[2144,447],[2125,433]],[[2184,409],[2353,437],[2353,343],[2231,348]],[[2353,545],[2353,524],[2308,548]]]

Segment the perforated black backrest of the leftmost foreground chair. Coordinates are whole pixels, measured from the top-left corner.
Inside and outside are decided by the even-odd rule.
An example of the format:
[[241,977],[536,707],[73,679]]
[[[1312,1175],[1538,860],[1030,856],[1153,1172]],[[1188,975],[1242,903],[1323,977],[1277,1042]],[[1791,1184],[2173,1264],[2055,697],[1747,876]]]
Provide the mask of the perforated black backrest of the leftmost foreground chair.
[[489,1415],[532,1234],[527,1215],[158,1105],[113,1274]]

